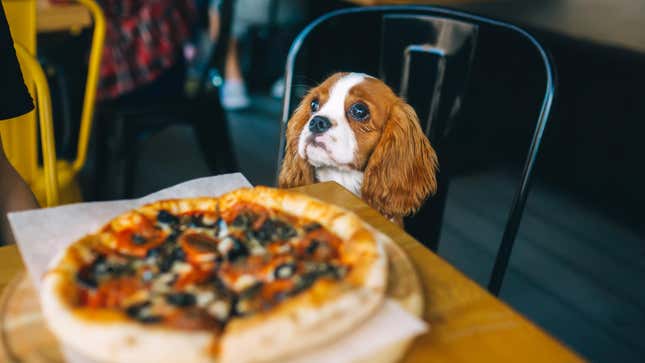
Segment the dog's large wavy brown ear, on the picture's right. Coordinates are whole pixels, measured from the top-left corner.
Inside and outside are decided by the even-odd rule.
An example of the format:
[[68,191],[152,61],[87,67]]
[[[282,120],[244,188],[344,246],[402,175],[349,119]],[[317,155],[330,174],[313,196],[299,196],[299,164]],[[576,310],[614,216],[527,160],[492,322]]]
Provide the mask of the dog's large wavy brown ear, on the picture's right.
[[437,190],[437,155],[414,109],[398,101],[365,168],[362,198],[390,218],[419,209]]

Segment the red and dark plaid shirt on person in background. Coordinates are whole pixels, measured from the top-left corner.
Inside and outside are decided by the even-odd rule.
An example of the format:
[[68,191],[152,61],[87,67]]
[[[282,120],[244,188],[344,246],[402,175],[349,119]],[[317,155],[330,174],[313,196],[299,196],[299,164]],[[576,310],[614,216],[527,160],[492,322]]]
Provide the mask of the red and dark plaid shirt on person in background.
[[99,0],[107,29],[99,99],[156,79],[182,56],[195,17],[192,0]]

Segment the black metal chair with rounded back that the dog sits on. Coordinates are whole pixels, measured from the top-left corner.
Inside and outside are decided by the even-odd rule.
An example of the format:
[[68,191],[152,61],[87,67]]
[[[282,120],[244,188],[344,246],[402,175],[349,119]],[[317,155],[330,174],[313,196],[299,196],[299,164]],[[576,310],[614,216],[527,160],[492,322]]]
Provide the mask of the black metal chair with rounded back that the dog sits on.
[[[287,58],[278,172],[284,156],[287,122],[301,96],[294,94],[296,81],[321,81],[332,71],[377,74],[415,108],[426,136],[439,154],[438,194],[405,221],[410,234],[436,251],[452,172],[446,141],[459,128],[456,120],[462,106],[468,105],[465,98],[470,90],[469,74],[473,59],[481,54],[478,43],[482,36],[489,37],[495,32],[504,32],[534,52],[532,56],[544,72],[545,87],[543,94],[534,97],[538,99],[539,115],[488,285],[492,293],[498,294],[555,94],[551,60],[527,31],[481,16],[430,6],[349,8],[323,15],[298,35]],[[513,58],[506,44],[498,46]]]

